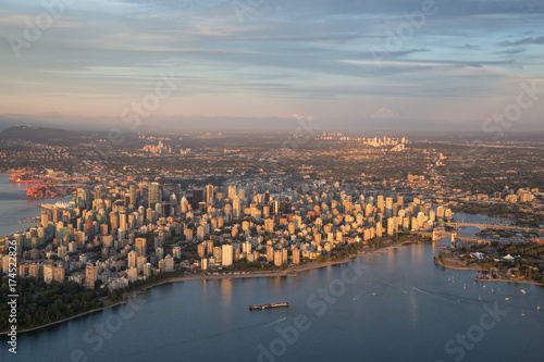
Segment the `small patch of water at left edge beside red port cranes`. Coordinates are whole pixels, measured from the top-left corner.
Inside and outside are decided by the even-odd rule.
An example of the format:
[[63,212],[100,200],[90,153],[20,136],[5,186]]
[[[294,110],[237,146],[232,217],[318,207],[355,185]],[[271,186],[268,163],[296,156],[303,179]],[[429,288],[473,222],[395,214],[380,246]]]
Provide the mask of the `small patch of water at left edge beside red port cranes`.
[[[40,203],[54,203],[58,200],[22,200],[26,196],[25,184],[10,183],[10,175],[0,174],[0,236],[24,232],[36,223],[18,223],[27,217],[41,214]],[[69,200],[70,197],[62,200]]]

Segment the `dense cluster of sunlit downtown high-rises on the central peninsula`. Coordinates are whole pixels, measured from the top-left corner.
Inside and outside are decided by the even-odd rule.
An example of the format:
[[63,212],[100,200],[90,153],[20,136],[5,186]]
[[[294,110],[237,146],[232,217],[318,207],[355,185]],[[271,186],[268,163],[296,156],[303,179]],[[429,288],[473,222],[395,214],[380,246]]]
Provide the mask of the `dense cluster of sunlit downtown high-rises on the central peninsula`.
[[[40,223],[12,239],[21,277],[116,289],[153,274],[239,261],[288,267],[353,242],[432,230],[452,217],[434,201],[324,182],[240,180],[203,189],[110,182],[78,188],[69,203],[44,205]],[[3,272],[8,261],[1,259]]]

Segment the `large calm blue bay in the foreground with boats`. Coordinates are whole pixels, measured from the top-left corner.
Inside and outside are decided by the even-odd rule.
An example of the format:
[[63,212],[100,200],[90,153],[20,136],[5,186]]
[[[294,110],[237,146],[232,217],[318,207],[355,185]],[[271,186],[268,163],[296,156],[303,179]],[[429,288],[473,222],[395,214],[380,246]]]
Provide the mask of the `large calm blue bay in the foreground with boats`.
[[[544,310],[536,308],[544,307],[544,288],[478,283],[471,279],[477,272],[436,266],[432,257],[441,244],[359,257],[363,273],[349,274],[350,284],[345,270],[354,261],[293,277],[161,285],[132,303],[20,335],[17,358],[70,361],[76,351],[89,361],[258,361],[259,346],[270,351],[272,342],[273,348],[285,346],[279,357],[270,354],[277,361],[453,361],[462,347],[449,346],[448,354],[448,340],[478,325],[484,305],[497,303],[507,314],[477,336],[471,349],[463,348],[462,360],[539,361]],[[334,296],[319,297],[325,289]],[[289,308],[248,310],[277,301],[289,302]],[[292,345],[277,342],[276,327],[292,330],[300,315],[308,317],[308,329],[289,340]],[[3,361],[8,352],[0,353]],[[269,361],[264,354],[261,361]]]

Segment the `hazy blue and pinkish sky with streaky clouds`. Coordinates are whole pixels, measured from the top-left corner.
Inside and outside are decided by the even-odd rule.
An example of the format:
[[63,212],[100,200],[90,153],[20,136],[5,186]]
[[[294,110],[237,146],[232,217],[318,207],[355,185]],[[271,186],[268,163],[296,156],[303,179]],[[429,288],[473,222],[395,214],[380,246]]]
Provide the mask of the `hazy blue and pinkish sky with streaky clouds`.
[[2,0],[0,126],[544,130],[543,24],[541,0]]

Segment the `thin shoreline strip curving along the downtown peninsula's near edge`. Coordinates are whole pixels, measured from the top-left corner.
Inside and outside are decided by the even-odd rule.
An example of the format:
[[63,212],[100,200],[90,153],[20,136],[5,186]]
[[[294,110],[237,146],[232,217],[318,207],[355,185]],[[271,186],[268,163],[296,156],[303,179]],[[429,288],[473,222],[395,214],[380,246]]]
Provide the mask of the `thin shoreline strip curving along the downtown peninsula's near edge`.
[[[407,245],[407,244],[418,244],[418,242],[423,242],[423,241],[413,241],[413,240],[403,241],[403,242],[399,242],[397,245],[387,246],[387,247],[382,248],[382,249],[376,249],[376,250],[372,250],[372,251],[362,251],[362,252],[359,251],[359,252],[357,252],[356,255],[349,255],[343,260],[325,261],[323,263],[311,264],[311,265],[301,265],[300,267],[296,267],[293,270],[285,270],[285,271],[267,271],[267,272],[252,272],[252,273],[249,272],[246,274],[219,274],[219,275],[198,275],[198,274],[195,275],[195,274],[191,274],[191,275],[187,275],[187,276],[174,276],[174,277],[170,277],[170,278],[166,278],[164,280],[159,280],[154,284],[141,287],[140,289],[133,290],[133,291],[127,294],[127,296],[125,297],[124,300],[119,301],[114,304],[92,309],[90,311],[83,312],[83,313],[77,314],[77,315],[72,315],[72,316],[69,316],[66,319],[51,322],[48,324],[44,324],[44,325],[40,325],[37,327],[32,327],[29,329],[17,330],[17,335],[23,334],[23,333],[27,333],[27,332],[48,328],[48,327],[51,327],[55,324],[60,324],[60,323],[64,323],[64,322],[71,321],[71,320],[75,320],[75,319],[78,319],[81,316],[85,316],[87,314],[100,312],[100,311],[103,311],[106,309],[113,308],[116,305],[126,304],[129,301],[132,301],[134,298],[136,298],[139,295],[147,291],[148,289],[151,289],[151,288],[164,285],[164,284],[178,283],[178,282],[191,282],[191,280],[244,279],[244,278],[275,277],[275,276],[298,276],[298,273],[301,273],[301,272],[306,272],[306,271],[310,271],[310,270],[314,270],[314,269],[320,269],[320,267],[326,267],[326,266],[331,266],[331,265],[345,264],[345,263],[348,263],[348,262],[353,261],[354,259],[362,257],[362,255],[372,255],[372,254],[376,254],[379,252],[386,252],[386,251],[391,251],[391,250],[394,250],[396,248],[399,248],[399,247]],[[8,333],[10,333],[10,330],[0,332],[0,336],[5,336],[5,335],[8,335]]]

